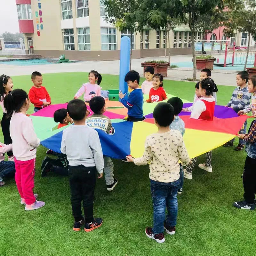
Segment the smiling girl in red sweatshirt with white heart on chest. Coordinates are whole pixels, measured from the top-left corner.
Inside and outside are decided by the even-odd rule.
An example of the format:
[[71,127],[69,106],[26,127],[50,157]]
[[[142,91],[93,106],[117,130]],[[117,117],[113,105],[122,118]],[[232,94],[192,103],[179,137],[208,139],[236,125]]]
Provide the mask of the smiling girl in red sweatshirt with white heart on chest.
[[153,88],[150,89],[149,99],[145,102],[158,102],[167,99],[166,93],[164,91],[163,76],[161,74],[155,74],[153,76]]

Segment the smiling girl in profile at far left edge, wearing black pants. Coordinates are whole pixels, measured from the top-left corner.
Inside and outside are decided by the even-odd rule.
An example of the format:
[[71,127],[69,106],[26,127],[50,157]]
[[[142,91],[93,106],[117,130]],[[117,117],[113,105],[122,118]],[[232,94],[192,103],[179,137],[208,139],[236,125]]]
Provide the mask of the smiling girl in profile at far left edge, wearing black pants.
[[[3,109],[3,118],[1,122],[2,132],[4,135],[4,144],[12,144],[12,138],[10,136],[10,118],[6,118],[6,109],[4,108],[4,97],[12,91],[13,83],[10,76],[0,76],[0,105]],[[12,150],[7,152],[8,161],[14,161]]]

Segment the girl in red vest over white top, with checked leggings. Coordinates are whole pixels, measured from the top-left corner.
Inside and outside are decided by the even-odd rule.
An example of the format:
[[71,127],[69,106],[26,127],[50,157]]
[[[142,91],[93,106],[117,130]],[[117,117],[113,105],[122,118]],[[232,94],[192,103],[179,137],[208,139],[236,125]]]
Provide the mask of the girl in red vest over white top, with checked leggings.
[[[199,93],[201,98],[196,101],[190,118],[201,119],[212,121],[214,116],[215,99],[212,96],[214,90],[214,84],[211,78],[205,78],[199,83]],[[184,177],[192,180],[192,170],[195,167],[197,157],[192,159],[192,164],[187,166],[187,170],[184,170]],[[212,172],[212,151],[205,154],[204,164],[199,164],[199,168],[205,170],[206,172]]]

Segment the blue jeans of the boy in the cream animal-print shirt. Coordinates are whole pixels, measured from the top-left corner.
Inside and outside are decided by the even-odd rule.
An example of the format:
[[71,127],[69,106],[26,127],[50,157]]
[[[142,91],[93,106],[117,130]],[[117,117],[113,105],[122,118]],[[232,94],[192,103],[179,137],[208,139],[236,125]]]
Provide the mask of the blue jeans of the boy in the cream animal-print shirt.
[[[164,220],[167,226],[176,226],[178,215],[177,192],[180,179],[165,183],[150,180],[151,195],[153,200],[153,233],[164,232]],[[165,208],[168,214],[165,218]]]

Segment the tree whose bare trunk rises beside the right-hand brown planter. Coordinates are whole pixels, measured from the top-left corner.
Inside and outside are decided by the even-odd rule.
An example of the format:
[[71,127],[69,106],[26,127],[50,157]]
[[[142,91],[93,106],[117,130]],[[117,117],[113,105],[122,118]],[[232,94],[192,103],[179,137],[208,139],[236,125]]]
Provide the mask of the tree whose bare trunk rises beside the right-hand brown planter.
[[196,50],[194,34],[198,24],[200,24],[200,17],[204,17],[206,13],[209,17],[213,17],[216,8],[224,9],[223,0],[180,0],[182,9],[188,14],[188,26],[191,30],[192,52],[193,52],[193,81],[196,81]]

